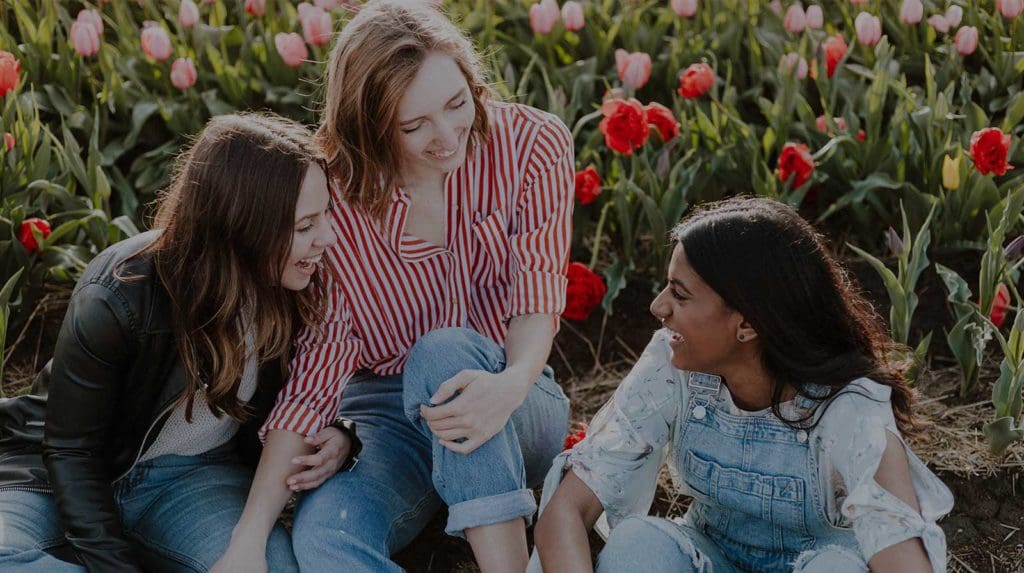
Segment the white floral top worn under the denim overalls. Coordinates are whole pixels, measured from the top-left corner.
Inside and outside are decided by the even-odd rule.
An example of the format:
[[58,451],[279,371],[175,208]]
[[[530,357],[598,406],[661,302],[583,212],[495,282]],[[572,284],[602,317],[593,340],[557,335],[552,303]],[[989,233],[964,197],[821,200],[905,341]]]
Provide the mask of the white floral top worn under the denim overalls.
[[[668,340],[666,330],[654,334],[612,399],[594,416],[587,438],[555,458],[542,511],[568,469],[601,500],[611,527],[627,516],[647,514],[664,461],[679,493],[690,493],[672,447],[676,421],[685,420],[681,410],[688,403],[687,373],[672,366]],[[675,384],[666,384],[668,379]],[[885,547],[921,537],[933,570],[945,571],[945,537],[935,522],[952,510],[952,493],[903,442],[889,387],[860,379],[850,388],[854,391],[837,397],[810,433],[821,498],[833,500],[825,508],[829,521],[853,529],[865,562]],[[724,385],[719,397],[734,414],[768,413],[739,409]],[[787,418],[803,411],[793,402],[781,406]],[[887,431],[903,443],[921,514],[874,481]]]

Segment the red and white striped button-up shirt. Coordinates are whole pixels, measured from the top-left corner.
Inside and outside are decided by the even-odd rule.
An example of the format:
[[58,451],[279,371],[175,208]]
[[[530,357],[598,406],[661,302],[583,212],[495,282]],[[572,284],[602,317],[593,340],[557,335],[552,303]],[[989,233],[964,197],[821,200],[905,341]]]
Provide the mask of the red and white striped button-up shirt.
[[329,284],[323,335],[297,338],[291,378],[261,435],[319,431],[356,370],[401,372],[426,333],[469,326],[504,345],[510,318],[562,312],[572,136],[557,117],[526,105],[494,102],[488,113],[488,141],[445,180],[447,248],[404,234],[411,201],[402,189],[383,222],[333,189],[338,243],[327,264],[340,282]]

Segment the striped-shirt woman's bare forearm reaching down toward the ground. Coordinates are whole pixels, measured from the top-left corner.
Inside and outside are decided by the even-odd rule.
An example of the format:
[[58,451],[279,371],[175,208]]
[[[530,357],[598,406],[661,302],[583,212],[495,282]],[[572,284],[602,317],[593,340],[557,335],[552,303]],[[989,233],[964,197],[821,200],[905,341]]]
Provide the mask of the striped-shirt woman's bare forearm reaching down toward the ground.
[[281,511],[292,496],[286,480],[302,469],[292,464],[292,459],[310,453],[312,449],[295,432],[271,430],[267,433],[246,506],[234,526],[232,543],[262,545],[266,542]]

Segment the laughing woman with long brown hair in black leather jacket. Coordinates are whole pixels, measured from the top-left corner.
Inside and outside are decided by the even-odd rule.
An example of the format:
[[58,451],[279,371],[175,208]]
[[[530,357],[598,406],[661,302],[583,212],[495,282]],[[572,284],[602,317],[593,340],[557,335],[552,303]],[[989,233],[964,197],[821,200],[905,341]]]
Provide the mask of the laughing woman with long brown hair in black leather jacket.
[[[0,404],[0,568],[214,566],[246,502],[293,332],[315,327],[326,307],[330,206],[302,126],[210,121],[180,156],[154,230],[82,274],[34,395]],[[287,470],[311,467],[293,479],[314,487],[349,448],[326,428]],[[280,524],[249,549],[273,571],[297,568]]]

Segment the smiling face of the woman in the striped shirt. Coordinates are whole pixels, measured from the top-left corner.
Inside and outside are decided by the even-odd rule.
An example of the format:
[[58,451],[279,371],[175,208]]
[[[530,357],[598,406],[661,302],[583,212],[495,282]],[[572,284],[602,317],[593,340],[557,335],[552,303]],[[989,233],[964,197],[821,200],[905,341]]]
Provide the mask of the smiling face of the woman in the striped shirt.
[[415,185],[461,166],[475,118],[469,84],[455,59],[427,55],[398,103],[403,182]]

